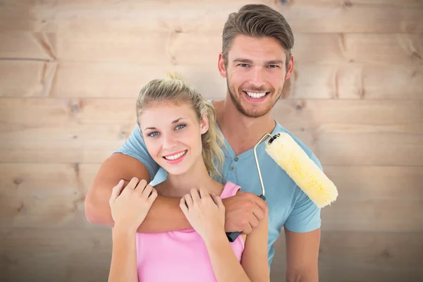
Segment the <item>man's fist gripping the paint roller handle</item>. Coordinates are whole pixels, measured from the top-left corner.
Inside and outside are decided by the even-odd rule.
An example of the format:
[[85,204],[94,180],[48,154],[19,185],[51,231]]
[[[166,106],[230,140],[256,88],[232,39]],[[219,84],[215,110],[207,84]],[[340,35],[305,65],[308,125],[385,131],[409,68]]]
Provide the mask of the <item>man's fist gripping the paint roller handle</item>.
[[235,196],[222,199],[226,209],[225,231],[250,234],[264,219],[267,204],[255,194],[238,192]]

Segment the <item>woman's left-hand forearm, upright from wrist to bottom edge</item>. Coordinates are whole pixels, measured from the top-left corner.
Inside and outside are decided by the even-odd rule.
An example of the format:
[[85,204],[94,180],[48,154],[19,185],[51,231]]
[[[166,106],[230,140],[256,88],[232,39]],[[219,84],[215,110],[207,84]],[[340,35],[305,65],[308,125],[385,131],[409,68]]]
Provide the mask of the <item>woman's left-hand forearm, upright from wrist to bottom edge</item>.
[[115,226],[112,231],[113,247],[109,282],[137,282],[136,233]]

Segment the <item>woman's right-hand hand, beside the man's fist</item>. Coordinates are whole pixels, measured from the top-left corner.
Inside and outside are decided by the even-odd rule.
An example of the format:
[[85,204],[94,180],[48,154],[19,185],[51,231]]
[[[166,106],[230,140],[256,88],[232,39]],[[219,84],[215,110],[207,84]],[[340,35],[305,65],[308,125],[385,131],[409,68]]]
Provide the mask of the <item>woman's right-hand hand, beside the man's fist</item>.
[[180,199],[179,207],[203,240],[225,232],[225,206],[219,196],[210,195],[204,188],[191,189]]

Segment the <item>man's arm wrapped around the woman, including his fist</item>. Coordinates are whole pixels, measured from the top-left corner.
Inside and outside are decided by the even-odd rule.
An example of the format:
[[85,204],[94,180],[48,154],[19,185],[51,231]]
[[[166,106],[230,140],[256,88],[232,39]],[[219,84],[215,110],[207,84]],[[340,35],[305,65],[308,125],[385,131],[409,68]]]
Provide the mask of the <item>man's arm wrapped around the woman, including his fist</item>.
[[[91,223],[114,226],[109,199],[111,190],[119,182],[125,185],[133,178],[150,181],[149,171],[137,159],[125,154],[111,155],[102,166],[85,197],[85,216]],[[223,199],[226,208],[227,232],[242,231],[249,234],[264,218],[266,203],[254,194],[238,192],[235,197]],[[180,199],[157,196],[138,232],[158,233],[192,228],[179,207]]]

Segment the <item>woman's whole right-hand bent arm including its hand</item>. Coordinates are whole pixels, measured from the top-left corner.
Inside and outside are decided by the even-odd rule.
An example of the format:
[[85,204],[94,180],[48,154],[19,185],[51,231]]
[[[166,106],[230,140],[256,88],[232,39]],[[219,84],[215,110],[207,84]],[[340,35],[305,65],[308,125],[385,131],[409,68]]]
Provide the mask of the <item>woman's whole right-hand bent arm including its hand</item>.
[[180,200],[180,209],[203,238],[217,281],[269,281],[267,207],[259,226],[247,235],[241,264],[226,237],[225,206],[220,197],[209,195],[203,188],[200,188],[200,195],[198,190],[192,189],[190,194]]

